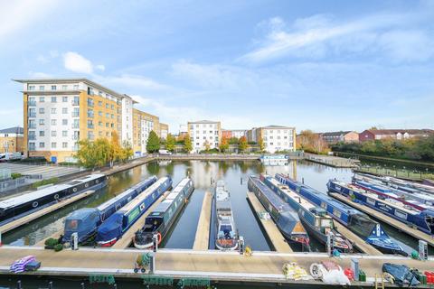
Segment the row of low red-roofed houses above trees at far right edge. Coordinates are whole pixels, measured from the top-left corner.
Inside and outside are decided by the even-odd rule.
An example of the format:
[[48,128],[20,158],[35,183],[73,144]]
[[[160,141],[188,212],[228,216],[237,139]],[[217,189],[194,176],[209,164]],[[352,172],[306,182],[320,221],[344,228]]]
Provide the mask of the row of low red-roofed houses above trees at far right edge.
[[432,129],[366,129],[359,134],[359,141],[380,140],[385,138],[407,139],[411,137],[427,137],[434,135]]

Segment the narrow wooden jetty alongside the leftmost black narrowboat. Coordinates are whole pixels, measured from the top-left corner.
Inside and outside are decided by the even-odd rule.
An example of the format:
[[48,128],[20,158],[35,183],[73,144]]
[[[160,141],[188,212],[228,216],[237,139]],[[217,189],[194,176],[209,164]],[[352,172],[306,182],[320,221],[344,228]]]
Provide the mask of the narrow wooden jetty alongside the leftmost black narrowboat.
[[59,210],[59,209],[65,207],[65,206],[68,206],[69,204],[71,204],[77,200],[81,200],[81,199],[84,199],[86,197],[89,197],[94,192],[95,191],[93,191],[93,190],[81,192],[78,195],[72,196],[71,198],[68,198],[68,199],[60,200],[59,202],[54,203],[51,206],[48,206],[48,207],[43,208],[41,210],[37,210],[37,211],[35,211],[29,215],[26,215],[20,219],[15,219],[12,222],[9,222],[9,223],[1,226],[0,232],[2,232],[2,234],[4,234],[5,232],[10,231],[11,229],[21,227],[25,224],[30,223],[34,219],[41,218],[42,216],[45,216],[46,214],[53,212],[54,210]]

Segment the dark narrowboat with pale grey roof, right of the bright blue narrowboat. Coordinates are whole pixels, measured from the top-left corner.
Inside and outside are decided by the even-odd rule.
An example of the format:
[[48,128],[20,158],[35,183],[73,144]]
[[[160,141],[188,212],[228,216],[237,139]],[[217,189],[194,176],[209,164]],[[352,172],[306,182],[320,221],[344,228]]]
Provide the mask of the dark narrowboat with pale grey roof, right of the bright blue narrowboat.
[[175,224],[176,218],[183,210],[193,190],[193,181],[190,178],[187,177],[179,182],[175,189],[165,197],[165,200],[159,203],[156,209],[146,217],[145,226],[139,229],[134,236],[134,247],[138,249],[152,248],[155,235],[158,237],[159,245]]

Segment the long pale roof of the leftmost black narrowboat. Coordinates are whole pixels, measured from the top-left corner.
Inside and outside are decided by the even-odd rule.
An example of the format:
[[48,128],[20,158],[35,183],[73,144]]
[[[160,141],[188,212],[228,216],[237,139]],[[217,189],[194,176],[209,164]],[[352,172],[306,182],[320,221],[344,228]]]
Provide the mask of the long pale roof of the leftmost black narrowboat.
[[87,175],[85,177],[81,177],[80,179],[75,179],[70,182],[65,182],[61,184],[55,184],[50,187],[44,188],[42,190],[38,191],[32,191],[28,193],[24,193],[23,195],[19,195],[10,199],[2,200],[0,201],[0,209],[6,210],[9,208],[13,208],[15,206],[24,204],[29,201],[38,200],[44,196],[50,195],[52,193],[55,193],[57,191],[63,191],[66,189],[69,189],[77,184],[80,184],[82,182],[89,182],[92,180],[99,179],[100,177],[104,176],[104,174],[94,173]]

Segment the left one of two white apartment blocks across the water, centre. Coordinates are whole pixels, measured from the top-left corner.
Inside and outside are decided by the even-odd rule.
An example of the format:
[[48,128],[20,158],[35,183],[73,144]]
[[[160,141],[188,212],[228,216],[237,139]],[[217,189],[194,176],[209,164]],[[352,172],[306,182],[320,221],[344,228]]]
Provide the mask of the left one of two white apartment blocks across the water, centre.
[[209,145],[210,149],[219,147],[222,137],[220,121],[192,121],[188,122],[187,129],[192,139],[194,153],[203,151],[207,145]]

